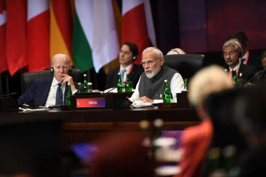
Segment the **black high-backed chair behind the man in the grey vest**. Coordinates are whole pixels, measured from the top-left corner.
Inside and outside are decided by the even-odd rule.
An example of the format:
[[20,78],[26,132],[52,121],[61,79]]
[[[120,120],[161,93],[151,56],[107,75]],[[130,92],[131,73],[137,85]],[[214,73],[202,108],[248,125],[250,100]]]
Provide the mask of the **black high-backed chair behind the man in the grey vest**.
[[176,69],[180,72],[183,79],[191,78],[202,68],[204,55],[183,54],[183,55],[164,55],[164,65]]

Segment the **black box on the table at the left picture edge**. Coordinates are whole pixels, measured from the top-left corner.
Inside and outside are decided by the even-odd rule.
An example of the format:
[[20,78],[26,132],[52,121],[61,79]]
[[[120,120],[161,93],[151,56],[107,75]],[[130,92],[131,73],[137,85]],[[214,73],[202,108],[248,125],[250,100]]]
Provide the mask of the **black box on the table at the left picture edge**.
[[18,101],[12,97],[0,98],[0,112],[12,112],[19,111]]

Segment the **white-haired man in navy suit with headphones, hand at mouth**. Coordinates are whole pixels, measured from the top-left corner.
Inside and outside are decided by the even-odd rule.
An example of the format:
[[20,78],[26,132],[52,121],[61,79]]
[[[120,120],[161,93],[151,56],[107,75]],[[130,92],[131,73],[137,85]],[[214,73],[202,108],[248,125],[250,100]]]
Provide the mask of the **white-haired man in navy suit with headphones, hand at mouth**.
[[67,55],[54,55],[51,62],[51,73],[54,77],[35,79],[30,89],[18,98],[19,104],[38,103],[40,106],[47,107],[56,104],[66,105],[67,83],[71,85],[72,94],[77,92],[78,87],[73,78],[68,75],[71,70]]

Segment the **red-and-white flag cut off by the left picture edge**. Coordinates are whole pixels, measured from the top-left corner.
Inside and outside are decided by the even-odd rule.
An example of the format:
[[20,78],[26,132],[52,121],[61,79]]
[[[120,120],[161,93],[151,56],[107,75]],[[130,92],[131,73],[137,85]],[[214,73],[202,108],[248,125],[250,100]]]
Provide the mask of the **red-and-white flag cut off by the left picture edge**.
[[4,0],[0,0],[0,73],[7,70],[6,61],[6,22],[7,11],[4,4]]

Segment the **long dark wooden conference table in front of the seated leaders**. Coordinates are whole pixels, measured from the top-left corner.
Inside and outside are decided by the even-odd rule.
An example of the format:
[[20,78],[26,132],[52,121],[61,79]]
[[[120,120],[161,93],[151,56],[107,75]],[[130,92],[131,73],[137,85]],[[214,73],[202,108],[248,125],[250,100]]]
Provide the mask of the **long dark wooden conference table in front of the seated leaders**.
[[[51,109],[35,112],[0,113],[0,119],[24,118],[61,118],[61,145],[68,149],[71,144],[92,142],[109,133],[123,131],[139,131],[139,122],[148,120],[150,127],[154,119],[164,121],[164,130],[183,130],[185,127],[200,123],[194,109],[160,108],[157,106],[145,108],[128,108],[119,110],[71,110]],[[152,128],[151,128],[152,131]]]

